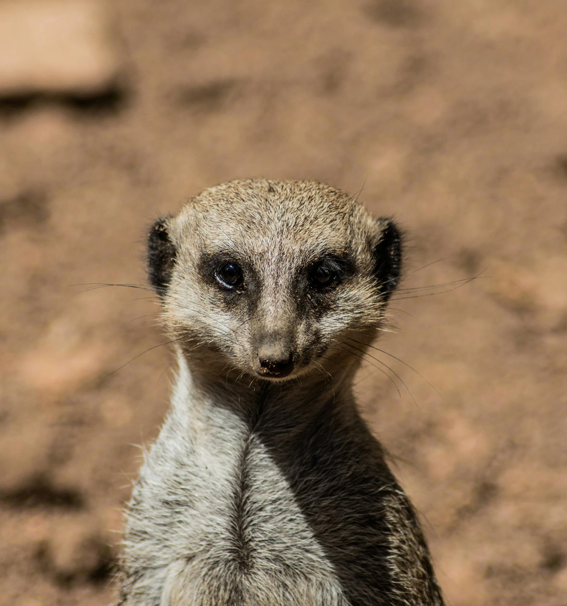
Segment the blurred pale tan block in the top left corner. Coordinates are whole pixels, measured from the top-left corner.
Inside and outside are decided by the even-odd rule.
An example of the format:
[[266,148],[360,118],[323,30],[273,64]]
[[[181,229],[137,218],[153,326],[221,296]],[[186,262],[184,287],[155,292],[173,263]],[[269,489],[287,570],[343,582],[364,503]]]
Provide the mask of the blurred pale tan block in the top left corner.
[[118,70],[108,14],[100,2],[0,3],[0,96],[101,93]]

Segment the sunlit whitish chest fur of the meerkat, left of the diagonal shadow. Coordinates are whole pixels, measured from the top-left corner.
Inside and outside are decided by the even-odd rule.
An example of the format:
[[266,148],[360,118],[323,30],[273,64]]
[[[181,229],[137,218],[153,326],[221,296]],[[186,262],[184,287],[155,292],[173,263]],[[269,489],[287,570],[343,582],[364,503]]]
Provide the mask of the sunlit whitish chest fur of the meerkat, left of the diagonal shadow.
[[[264,445],[228,408],[197,413],[187,400],[181,406],[184,391],[177,388],[141,470],[129,521],[130,533],[145,536],[130,550],[127,545],[130,559],[162,554],[159,602],[128,603],[346,605],[332,565]],[[151,519],[146,507],[136,514],[136,501],[150,504]],[[158,598],[156,585],[152,593]]]

